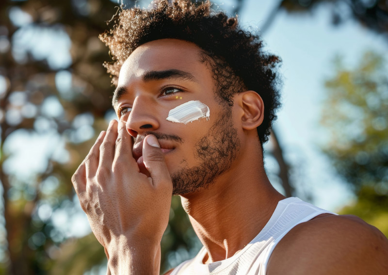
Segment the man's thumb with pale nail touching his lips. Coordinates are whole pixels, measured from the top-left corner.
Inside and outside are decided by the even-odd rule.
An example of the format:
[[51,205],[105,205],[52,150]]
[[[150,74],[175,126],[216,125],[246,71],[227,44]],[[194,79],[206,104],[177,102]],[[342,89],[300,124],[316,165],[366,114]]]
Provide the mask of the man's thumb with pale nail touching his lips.
[[153,185],[171,187],[172,192],[170,173],[167,170],[159,142],[153,135],[147,135],[143,142],[143,162],[152,178]]

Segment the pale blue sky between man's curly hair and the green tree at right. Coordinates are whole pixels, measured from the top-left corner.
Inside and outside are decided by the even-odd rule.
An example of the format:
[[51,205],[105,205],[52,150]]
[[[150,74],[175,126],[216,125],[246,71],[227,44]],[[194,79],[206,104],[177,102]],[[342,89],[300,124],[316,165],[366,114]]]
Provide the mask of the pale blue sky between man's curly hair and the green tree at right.
[[[247,0],[241,11],[242,26],[249,24],[259,29],[276,2]],[[354,20],[333,26],[332,8],[331,4],[324,4],[303,15],[282,11],[263,33],[267,49],[283,60],[283,106],[275,129],[286,157],[294,164],[299,161],[303,167],[303,187],[311,190],[317,206],[328,210],[350,203],[352,195],[320,152],[327,133],[319,120],[322,112],[330,112],[323,104],[324,81],[333,76],[332,61],[336,55],[342,56],[349,68],[358,63],[366,50],[388,57],[388,41],[382,35]]]

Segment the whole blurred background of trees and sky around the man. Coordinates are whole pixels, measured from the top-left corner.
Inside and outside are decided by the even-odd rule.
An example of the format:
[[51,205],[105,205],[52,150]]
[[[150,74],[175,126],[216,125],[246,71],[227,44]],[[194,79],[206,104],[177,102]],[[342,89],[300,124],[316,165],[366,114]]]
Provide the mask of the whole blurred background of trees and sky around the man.
[[[71,176],[115,118],[98,34],[117,6],[0,1],[0,274],[106,272]],[[388,236],[388,0],[216,0],[213,8],[238,14],[283,60],[283,107],[265,146],[275,187]],[[162,272],[200,247],[174,197]]]

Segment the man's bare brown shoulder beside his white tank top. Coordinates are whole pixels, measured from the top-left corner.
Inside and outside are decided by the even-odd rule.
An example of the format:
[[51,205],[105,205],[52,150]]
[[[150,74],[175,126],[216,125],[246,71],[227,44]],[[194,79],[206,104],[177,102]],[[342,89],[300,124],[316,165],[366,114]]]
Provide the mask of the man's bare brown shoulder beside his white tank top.
[[323,214],[295,226],[277,244],[267,275],[388,274],[388,240],[352,215]]

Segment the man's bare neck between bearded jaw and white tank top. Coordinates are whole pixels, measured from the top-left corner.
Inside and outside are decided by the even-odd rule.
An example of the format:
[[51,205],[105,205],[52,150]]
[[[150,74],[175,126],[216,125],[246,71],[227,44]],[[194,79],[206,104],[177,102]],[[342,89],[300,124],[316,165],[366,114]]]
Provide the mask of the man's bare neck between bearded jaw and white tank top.
[[[249,155],[249,153],[248,153]],[[285,197],[246,154],[209,188],[182,195],[194,231],[208,251],[204,262],[227,259],[252,241]]]

